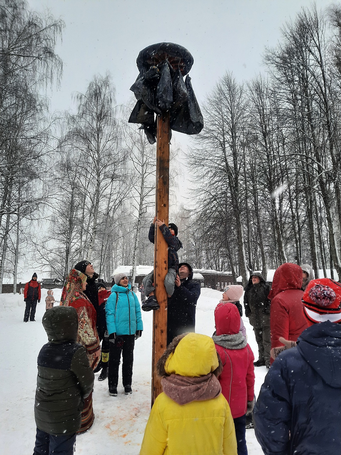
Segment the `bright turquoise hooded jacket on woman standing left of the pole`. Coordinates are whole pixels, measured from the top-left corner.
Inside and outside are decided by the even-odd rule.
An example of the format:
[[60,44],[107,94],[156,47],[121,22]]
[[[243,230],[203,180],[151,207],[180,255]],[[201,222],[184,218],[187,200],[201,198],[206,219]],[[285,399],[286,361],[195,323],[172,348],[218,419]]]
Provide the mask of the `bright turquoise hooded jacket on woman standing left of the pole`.
[[136,330],[143,330],[140,302],[130,288],[130,284],[127,288],[118,284],[114,284],[111,288],[111,294],[105,304],[106,327],[109,335],[113,333],[134,335]]

